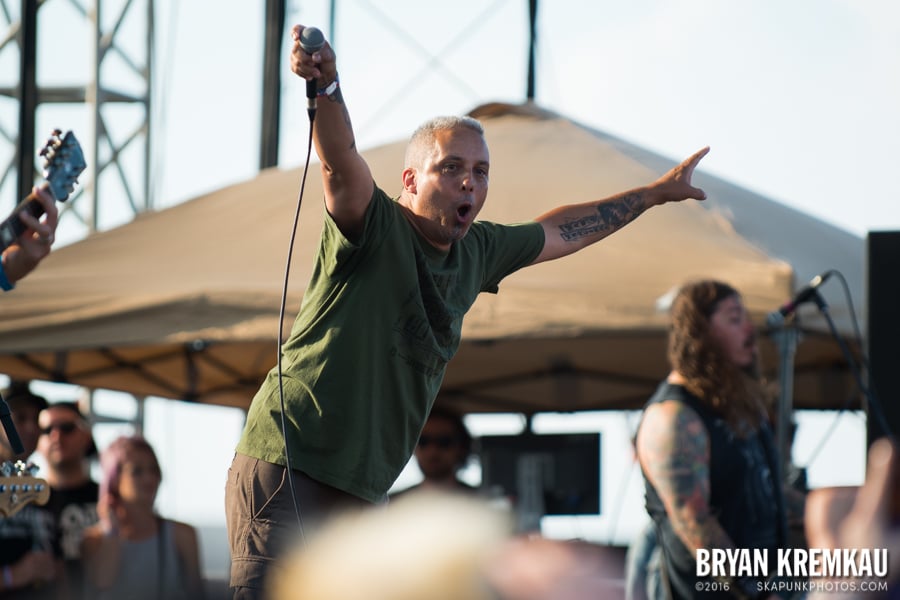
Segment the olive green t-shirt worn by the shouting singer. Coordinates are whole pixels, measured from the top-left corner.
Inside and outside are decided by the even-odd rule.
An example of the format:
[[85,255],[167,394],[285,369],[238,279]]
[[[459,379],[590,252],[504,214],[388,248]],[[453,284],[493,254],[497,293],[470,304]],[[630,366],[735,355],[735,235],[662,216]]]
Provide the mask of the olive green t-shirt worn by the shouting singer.
[[[466,311],[543,245],[538,223],[475,222],[441,252],[377,187],[356,243],[326,212],[311,280],[282,348],[291,466],[382,501],[412,456]],[[273,368],[237,451],[285,465],[278,390]]]

